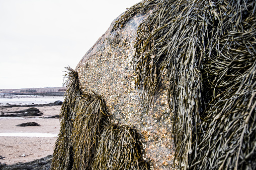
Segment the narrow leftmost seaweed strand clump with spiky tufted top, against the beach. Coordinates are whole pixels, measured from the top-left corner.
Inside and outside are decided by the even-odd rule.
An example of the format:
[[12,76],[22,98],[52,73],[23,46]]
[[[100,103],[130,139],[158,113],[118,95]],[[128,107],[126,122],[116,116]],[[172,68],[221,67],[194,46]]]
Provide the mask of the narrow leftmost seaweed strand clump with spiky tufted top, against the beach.
[[64,78],[66,79],[66,92],[60,109],[60,132],[55,142],[51,169],[72,169],[73,144],[72,130],[76,117],[75,105],[77,98],[82,94],[79,90],[78,74],[72,68],[67,67]]

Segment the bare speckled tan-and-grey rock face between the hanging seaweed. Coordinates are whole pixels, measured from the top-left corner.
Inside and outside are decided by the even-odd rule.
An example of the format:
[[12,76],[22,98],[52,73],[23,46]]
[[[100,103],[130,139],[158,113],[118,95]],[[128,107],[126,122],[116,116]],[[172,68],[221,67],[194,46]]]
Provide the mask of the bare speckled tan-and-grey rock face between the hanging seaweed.
[[[149,12],[151,13],[151,11]],[[172,122],[164,87],[155,95],[154,109],[140,104],[142,89],[135,87],[134,43],[139,24],[149,15],[136,15],[124,28],[107,32],[84,55],[76,70],[83,92],[93,90],[106,100],[115,123],[132,126],[142,134],[143,157],[150,169],[174,169]]]

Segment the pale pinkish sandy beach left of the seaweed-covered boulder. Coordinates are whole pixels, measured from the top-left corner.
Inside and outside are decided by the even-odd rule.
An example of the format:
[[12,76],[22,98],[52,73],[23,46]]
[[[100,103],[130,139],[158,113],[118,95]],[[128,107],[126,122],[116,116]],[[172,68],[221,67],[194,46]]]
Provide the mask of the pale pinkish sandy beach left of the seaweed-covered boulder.
[[[54,136],[59,133],[59,118],[43,117],[59,114],[61,106],[35,107],[43,113],[42,116],[0,117],[0,157],[2,156],[0,162],[2,164],[28,162],[53,154],[57,139]],[[28,108],[0,107],[0,114]],[[36,122],[40,126],[16,126],[27,122]]]

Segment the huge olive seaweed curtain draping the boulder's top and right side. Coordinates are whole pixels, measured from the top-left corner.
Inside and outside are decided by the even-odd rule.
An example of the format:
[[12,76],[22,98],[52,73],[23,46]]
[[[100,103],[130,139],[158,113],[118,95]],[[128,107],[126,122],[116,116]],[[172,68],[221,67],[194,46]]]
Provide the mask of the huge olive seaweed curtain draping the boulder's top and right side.
[[167,87],[179,167],[255,169],[256,2],[145,0],[113,29],[150,9],[137,30],[135,83],[148,107]]

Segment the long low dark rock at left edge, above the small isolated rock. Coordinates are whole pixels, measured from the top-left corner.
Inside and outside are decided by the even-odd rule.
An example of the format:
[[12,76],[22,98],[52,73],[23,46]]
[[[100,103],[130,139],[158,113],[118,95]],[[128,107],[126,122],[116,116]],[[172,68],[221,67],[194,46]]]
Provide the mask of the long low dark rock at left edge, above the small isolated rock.
[[[16,114],[10,114],[10,113],[16,113]],[[24,110],[7,112],[5,114],[1,114],[0,117],[23,117],[23,116],[42,116],[42,115],[43,113],[41,113],[39,109],[35,107],[30,107]]]

